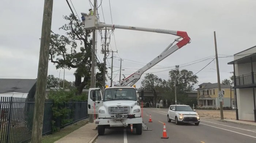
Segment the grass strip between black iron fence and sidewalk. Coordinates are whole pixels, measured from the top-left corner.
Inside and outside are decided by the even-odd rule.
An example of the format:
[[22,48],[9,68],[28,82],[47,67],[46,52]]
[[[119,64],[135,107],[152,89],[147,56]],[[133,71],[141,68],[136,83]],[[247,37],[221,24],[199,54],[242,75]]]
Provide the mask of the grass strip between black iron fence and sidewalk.
[[55,141],[86,125],[88,122],[88,120],[80,120],[74,124],[60,129],[59,132],[54,132],[53,134],[42,136],[42,143],[54,143]]

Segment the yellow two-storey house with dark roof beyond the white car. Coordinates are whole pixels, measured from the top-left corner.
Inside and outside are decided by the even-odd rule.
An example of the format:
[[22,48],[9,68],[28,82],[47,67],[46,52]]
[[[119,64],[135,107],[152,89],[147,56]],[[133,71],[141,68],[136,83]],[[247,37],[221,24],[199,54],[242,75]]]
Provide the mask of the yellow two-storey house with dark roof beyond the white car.
[[[218,83],[202,83],[197,90],[197,104],[200,108],[218,108]],[[234,107],[234,90],[229,85],[221,84],[221,90],[223,91],[223,107]]]

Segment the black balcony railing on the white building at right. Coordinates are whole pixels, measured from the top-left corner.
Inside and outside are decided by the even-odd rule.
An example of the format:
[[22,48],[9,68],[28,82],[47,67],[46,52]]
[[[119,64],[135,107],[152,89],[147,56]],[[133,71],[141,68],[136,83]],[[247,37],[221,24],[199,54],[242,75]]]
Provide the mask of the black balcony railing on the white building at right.
[[[254,83],[256,83],[256,73],[253,74],[253,77],[254,77]],[[252,84],[252,74],[236,76],[237,86],[248,85],[248,84]]]

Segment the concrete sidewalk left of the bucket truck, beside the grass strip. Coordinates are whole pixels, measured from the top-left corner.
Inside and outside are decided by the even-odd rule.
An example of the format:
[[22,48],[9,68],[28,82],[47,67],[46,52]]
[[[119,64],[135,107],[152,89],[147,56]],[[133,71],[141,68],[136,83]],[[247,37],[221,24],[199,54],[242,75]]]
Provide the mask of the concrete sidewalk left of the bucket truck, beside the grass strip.
[[54,143],[92,143],[98,136],[98,131],[93,130],[96,127],[95,122],[88,123]]

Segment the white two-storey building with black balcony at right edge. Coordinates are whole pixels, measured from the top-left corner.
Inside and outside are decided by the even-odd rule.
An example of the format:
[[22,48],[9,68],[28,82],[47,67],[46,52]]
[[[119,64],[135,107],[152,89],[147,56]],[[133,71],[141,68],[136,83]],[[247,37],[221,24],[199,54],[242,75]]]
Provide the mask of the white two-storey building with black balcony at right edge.
[[256,46],[234,54],[234,88],[236,90],[237,120],[256,122]]

